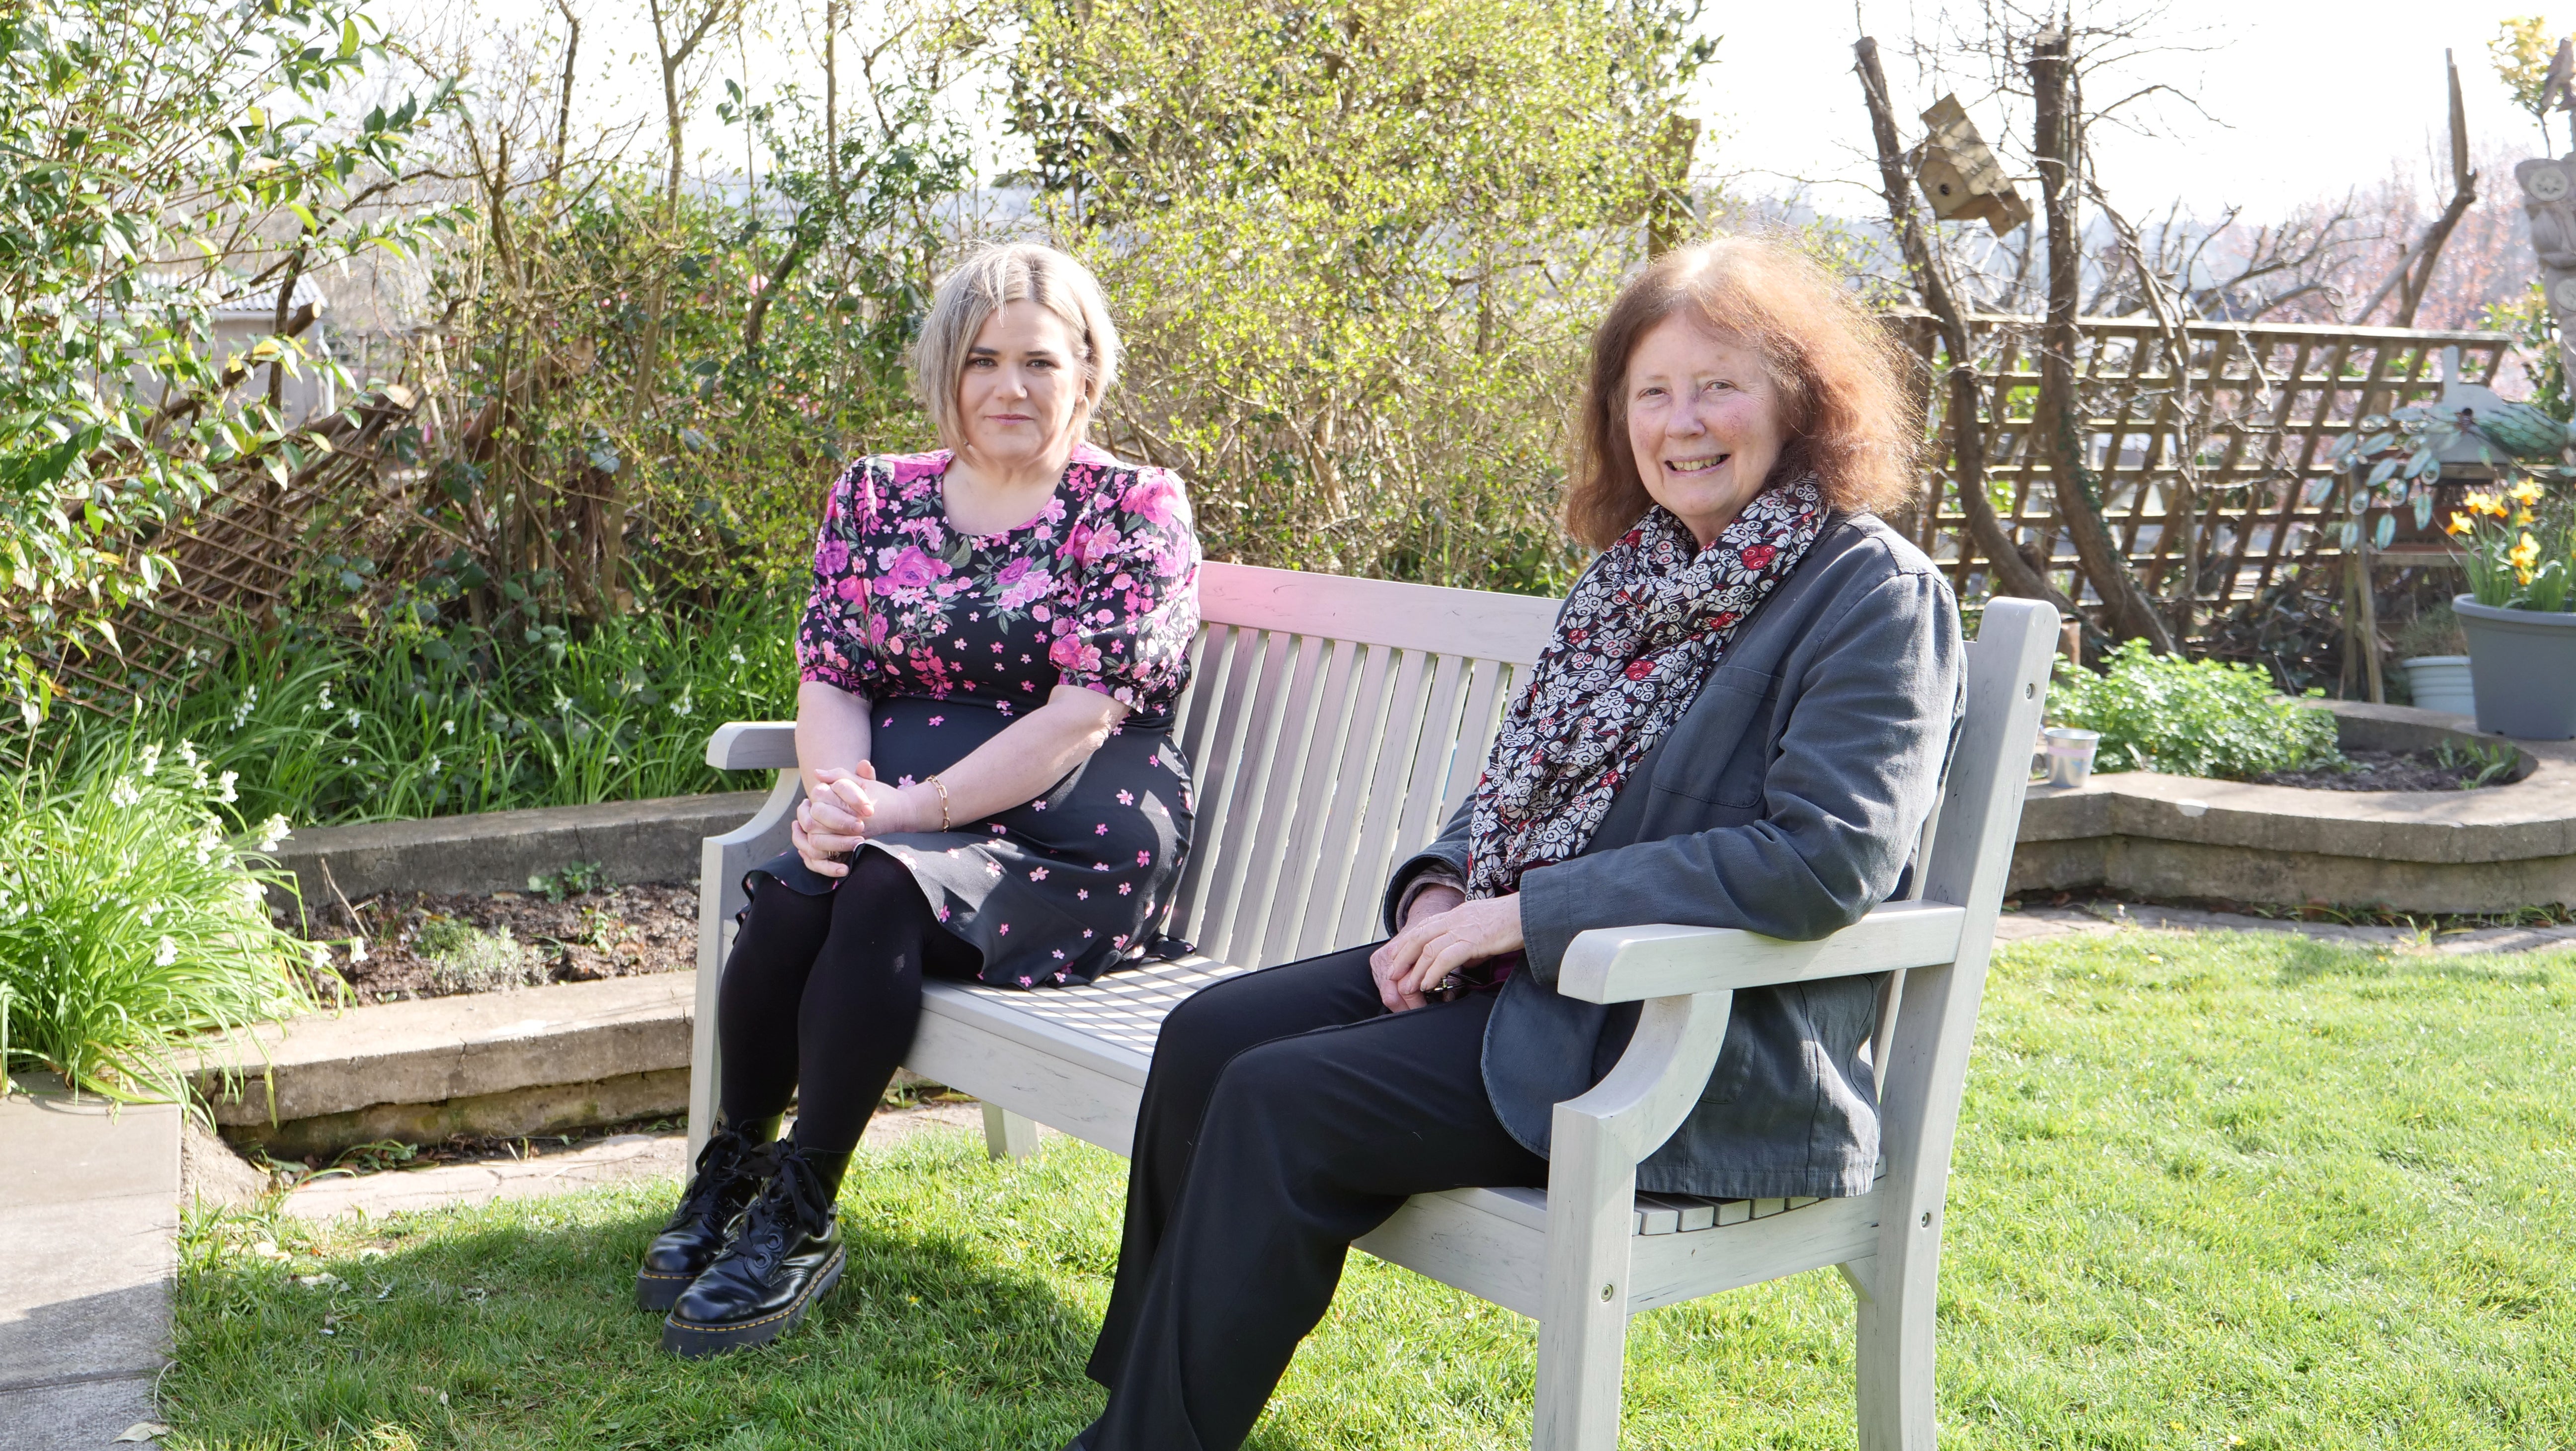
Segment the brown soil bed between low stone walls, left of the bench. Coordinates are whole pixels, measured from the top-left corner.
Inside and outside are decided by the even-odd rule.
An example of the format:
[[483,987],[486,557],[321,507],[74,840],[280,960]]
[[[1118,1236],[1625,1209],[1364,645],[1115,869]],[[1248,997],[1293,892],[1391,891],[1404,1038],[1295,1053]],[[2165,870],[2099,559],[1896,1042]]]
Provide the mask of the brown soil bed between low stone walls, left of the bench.
[[[307,902],[353,1003],[402,1003],[698,966],[698,887],[657,881],[549,899],[533,892],[381,892]],[[348,938],[366,941],[366,956]],[[330,982],[325,982],[330,990]]]

